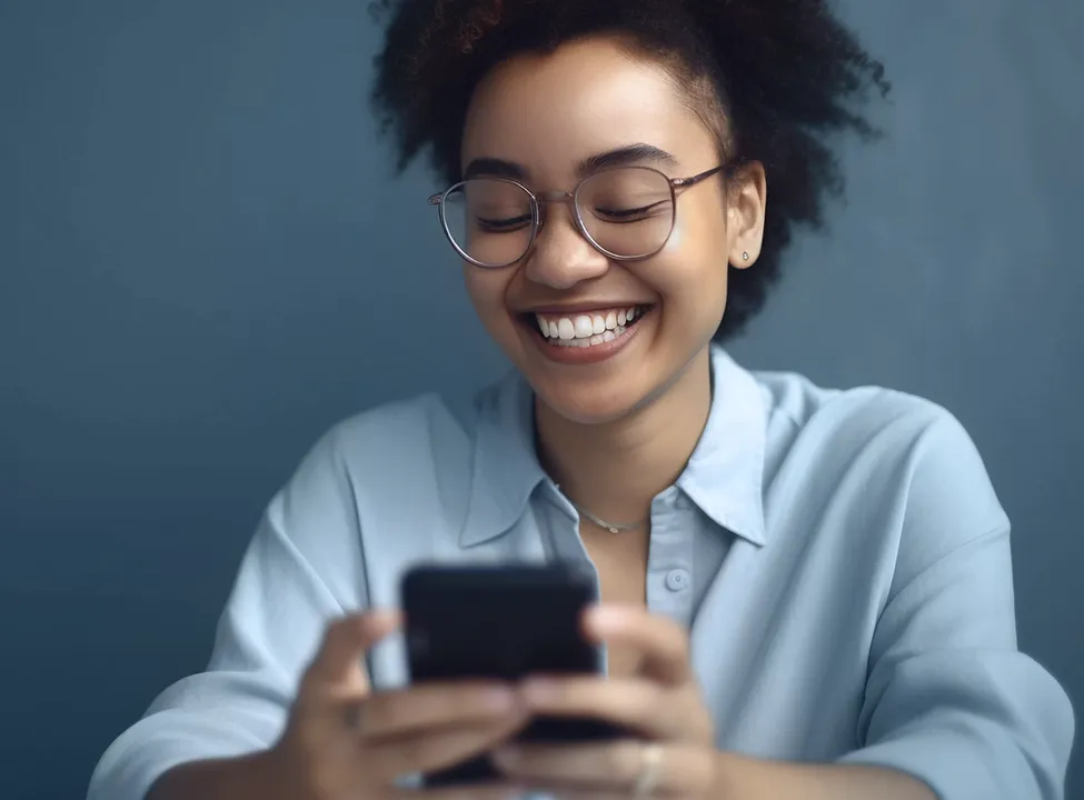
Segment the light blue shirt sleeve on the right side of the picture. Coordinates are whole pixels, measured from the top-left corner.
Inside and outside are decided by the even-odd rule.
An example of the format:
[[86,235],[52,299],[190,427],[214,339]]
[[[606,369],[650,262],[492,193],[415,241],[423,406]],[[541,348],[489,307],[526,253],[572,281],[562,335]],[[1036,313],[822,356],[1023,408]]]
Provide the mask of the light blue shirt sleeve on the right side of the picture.
[[892,586],[843,763],[896,769],[939,800],[1062,800],[1068,697],[1020,652],[1010,526],[947,413],[909,453]]

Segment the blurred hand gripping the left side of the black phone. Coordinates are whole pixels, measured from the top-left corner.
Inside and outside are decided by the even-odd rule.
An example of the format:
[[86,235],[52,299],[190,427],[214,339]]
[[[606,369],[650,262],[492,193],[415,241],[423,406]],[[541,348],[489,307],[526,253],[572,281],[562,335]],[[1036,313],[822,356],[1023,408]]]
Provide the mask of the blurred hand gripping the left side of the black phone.
[[284,796],[304,800],[497,800],[511,787],[402,790],[396,778],[451,767],[494,749],[527,721],[509,686],[431,683],[372,692],[365,653],[399,626],[391,612],[334,622],[268,753]]

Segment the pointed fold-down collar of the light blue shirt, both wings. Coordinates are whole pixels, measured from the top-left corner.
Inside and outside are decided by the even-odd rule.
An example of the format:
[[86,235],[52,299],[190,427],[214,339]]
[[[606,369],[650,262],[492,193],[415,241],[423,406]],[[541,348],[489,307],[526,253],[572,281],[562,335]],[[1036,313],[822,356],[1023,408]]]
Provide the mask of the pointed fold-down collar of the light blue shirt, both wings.
[[[716,524],[764,543],[767,412],[760,387],[718,346],[712,346],[712,409],[678,488]],[[460,547],[495,539],[523,517],[547,480],[535,449],[534,393],[511,373],[476,406],[470,503]]]

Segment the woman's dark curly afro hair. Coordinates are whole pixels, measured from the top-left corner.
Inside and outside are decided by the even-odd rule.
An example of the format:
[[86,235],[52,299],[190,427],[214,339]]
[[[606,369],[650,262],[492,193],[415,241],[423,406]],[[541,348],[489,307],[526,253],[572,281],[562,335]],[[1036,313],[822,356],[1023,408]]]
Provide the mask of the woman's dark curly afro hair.
[[374,108],[395,138],[399,168],[422,150],[447,181],[475,87],[500,61],[551,52],[590,34],[656,58],[719,139],[732,164],[758,161],[768,192],[757,266],[730,269],[719,340],[764,304],[796,224],[821,228],[843,176],[826,137],[874,136],[859,113],[884,69],[826,0],[377,0],[387,38],[376,59]]

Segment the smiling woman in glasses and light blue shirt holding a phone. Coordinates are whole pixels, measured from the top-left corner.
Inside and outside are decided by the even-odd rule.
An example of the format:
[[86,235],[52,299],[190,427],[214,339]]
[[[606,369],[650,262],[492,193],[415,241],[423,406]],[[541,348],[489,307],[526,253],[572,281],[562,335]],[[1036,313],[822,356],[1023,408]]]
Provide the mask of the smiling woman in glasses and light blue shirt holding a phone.
[[[1008,522],[959,424],[717,343],[819,223],[824,142],[872,132],[879,64],[822,0],[387,6],[377,108],[451,184],[430,202],[516,374],[466,420],[422,398],[336,427],[208,671],[91,797],[1061,798],[1072,709],[1016,649]],[[407,566],[555,558],[596,571],[607,678],[404,689],[397,641],[370,652]],[[647,743],[510,748],[540,711]],[[397,782],[490,750],[507,783]]]

